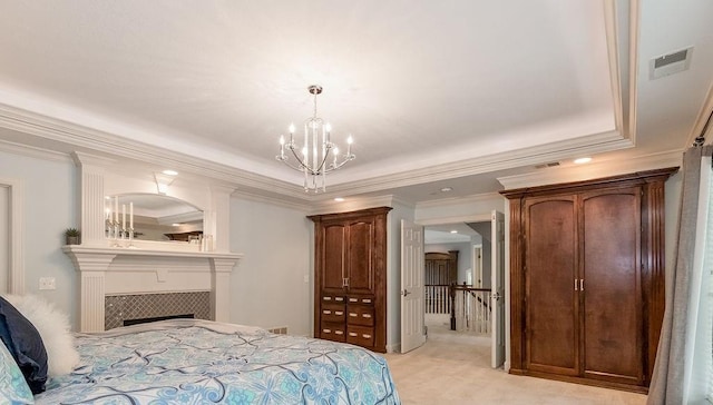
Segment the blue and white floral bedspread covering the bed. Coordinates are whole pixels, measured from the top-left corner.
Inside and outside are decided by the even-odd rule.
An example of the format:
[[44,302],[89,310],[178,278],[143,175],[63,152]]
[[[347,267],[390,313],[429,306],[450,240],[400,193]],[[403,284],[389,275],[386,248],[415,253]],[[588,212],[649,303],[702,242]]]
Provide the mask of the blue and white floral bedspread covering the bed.
[[361,347],[194,319],[77,338],[81,364],[37,404],[399,404]]

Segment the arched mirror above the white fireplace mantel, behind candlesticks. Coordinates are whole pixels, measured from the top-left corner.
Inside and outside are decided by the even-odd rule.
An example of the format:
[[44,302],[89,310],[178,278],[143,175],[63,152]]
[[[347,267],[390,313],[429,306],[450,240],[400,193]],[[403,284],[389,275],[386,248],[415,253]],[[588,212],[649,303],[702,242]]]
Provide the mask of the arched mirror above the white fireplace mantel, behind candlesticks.
[[[119,220],[134,204],[134,238],[137,240],[198,243],[203,235],[203,211],[178,198],[157,194],[124,194],[118,197]],[[107,215],[114,213],[115,197],[107,197]]]

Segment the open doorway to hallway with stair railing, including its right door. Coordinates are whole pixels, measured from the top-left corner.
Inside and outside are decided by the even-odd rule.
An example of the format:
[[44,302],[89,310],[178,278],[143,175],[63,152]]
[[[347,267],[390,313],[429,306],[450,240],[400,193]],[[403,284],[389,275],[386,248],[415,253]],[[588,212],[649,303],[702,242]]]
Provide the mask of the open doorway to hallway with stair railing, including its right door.
[[[408,316],[408,319],[411,319],[409,323],[427,326],[424,342],[428,338],[455,338],[456,336],[461,340],[472,338],[470,342],[473,345],[485,345],[482,349],[490,352],[490,366],[494,368],[500,367],[505,359],[504,223],[504,215],[494,210],[487,217],[484,215],[458,218],[452,221],[431,220],[421,223],[420,226],[413,225],[423,234],[421,258],[424,259],[427,254],[440,254],[443,257],[457,257],[458,261],[453,264],[455,270],[448,271],[452,277],[449,279],[447,294],[436,293],[436,289],[446,287],[442,285],[429,286],[423,283],[419,288],[424,304],[429,300],[442,299],[443,295],[447,296],[448,302],[436,306],[423,305],[421,320],[411,319],[414,315],[411,313]],[[419,278],[426,280],[428,278],[426,260],[421,263]],[[412,266],[408,267],[412,274],[414,269]],[[404,268],[402,268],[402,279],[403,271]],[[430,289],[433,290],[430,292]],[[440,310],[432,310],[434,307]],[[402,310],[402,328],[404,316],[407,315]]]

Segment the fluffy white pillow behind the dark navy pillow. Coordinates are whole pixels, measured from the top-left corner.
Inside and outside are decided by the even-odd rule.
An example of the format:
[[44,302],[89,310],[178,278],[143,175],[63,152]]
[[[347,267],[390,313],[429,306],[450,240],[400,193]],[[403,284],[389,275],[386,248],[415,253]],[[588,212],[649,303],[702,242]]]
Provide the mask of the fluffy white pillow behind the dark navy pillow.
[[50,377],[71,373],[79,364],[79,353],[70,332],[69,317],[53,304],[35,295],[3,296],[39,332],[47,350],[47,374]]

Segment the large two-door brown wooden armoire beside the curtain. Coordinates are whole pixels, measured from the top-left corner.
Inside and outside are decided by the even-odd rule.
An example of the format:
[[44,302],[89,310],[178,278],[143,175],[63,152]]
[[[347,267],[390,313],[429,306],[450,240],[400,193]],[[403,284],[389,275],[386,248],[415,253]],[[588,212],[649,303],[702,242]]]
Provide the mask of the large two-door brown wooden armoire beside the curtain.
[[664,313],[664,182],[677,168],[501,191],[510,373],[646,392]]

